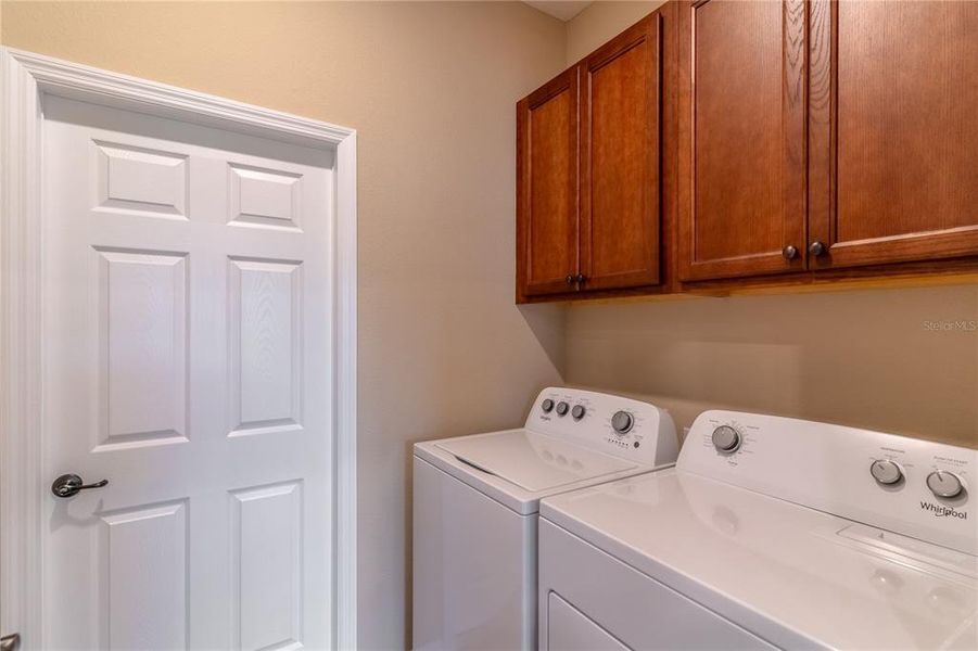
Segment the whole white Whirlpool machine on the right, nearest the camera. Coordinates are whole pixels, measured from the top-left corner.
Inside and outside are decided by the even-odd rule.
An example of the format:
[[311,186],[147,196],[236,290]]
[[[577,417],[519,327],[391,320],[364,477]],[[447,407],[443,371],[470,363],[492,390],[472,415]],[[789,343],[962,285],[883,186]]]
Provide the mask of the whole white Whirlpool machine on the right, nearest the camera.
[[543,500],[542,649],[978,649],[978,450],[708,411]]

